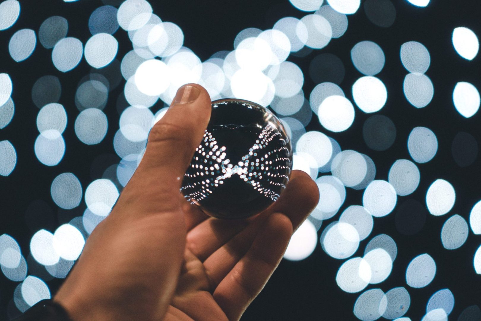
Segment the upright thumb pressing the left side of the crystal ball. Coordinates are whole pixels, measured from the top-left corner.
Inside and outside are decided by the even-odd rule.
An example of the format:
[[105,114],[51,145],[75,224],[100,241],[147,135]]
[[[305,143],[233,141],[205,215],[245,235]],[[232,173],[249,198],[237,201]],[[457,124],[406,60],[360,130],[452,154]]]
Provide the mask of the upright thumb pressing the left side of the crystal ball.
[[209,94],[201,85],[177,90],[149,133],[142,161],[121,194],[123,201],[145,214],[177,209],[182,178],[202,141],[211,109]]

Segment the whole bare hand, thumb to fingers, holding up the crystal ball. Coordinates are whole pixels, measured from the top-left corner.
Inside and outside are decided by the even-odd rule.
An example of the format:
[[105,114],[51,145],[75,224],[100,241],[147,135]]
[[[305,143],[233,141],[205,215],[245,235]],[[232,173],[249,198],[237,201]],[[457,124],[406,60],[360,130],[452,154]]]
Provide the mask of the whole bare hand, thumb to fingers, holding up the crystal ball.
[[220,220],[190,205],[181,178],[210,112],[207,91],[185,85],[152,128],[139,167],[54,297],[74,321],[239,320],[277,268],[318,202],[316,183],[292,171],[278,201],[253,218]]

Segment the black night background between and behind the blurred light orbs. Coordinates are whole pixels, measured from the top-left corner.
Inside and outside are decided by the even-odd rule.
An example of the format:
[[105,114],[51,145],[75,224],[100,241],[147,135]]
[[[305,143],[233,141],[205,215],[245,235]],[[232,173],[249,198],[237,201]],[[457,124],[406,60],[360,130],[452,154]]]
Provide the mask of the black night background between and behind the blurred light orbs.
[[[105,1],[106,4],[119,4],[121,1]],[[364,2],[364,1],[362,1]],[[362,256],[367,242],[380,233],[390,235],[398,245],[398,256],[393,263],[389,278],[380,284],[369,285],[367,289],[380,287],[387,292],[393,287],[404,286],[411,295],[411,307],[405,316],[420,320],[426,313],[426,304],[434,292],[449,288],[455,297],[455,307],[449,320],[457,320],[458,315],[468,306],[479,305],[481,299],[481,276],[473,268],[473,256],[481,244],[481,237],[469,234],[466,244],[454,251],[448,251],[441,244],[441,228],[447,218],[459,214],[466,220],[472,206],[481,199],[480,160],[461,168],[456,165],[451,145],[459,131],[481,139],[480,113],[465,119],[453,106],[452,92],[456,82],[468,81],[481,88],[479,55],[473,61],[461,58],[453,48],[451,35],[455,27],[466,26],[481,35],[479,16],[481,1],[431,0],[426,8],[418,8],[405,0],[392,0],[396,8],[393,26],[382,28],[373,25],[363,11],[363,3],[357,13],[348,16],[349,26],[340,39],[332,39],[322,50],[305,51],[302,57],[291,55],[288,61],[298,64],[304,71],[304,93],[308,98],[316,83],[309,77],[309,64],[320,53],[333,53],[341,58],[346,74],[341,88],[346,97],[352,100],[351,86],[362,75],[354,68],[350,51],[359,41],[372,40],[380,45],[386,56],[386,64],[379,77],[388,90],[388,100],[378,114],[389,116],[394,122],[397,136],[387,151],[370,150],[362,139],[362,126],[367,114],[356,109],[354,124],[342,133],[329,133],[343,150],[354,149],[369,155],[377,167],[376,179],[387,180],[389,168],[396,159],[409,159],[407,137],[412,128],[425,126],[434,131],[439,149],[433,160],[418,165],[421,181],[415,193],[398,197],[398,206],[405,200],[415,199],[423,205],[426,216],[424,227],[415,235],[405,236],[395,228],[395,213],[375,218],[374,229],[362,241],[354,256]],[[233,50],[233,40],[244,28],[257,27],[262,30],[272,28],[278,19],[285,16],[301,18],[306,14],[290,4],[288,0],[163,0],[151,1],[153,12],[163,21],[171,21],[184,32],[184,46],[194,51],[202,61],[216,51]],[[89,73],[90,67],[82,60],[71,72],[63,74],[51,63],[51,50],[37,44],[32,57],[15,63],[8,53],[8,42],[13,33],[21,28],[32,28],[38,32],[40,24],[52,15],[61,15],[69,22],[67,36],[80,39],[84,44],[89,39],[88,19],[93,10],[103,5],[100,0],[80,0],[64,3],[62,0],[21,1],[19,20],[12,28],[0,31],[0,72],[8,73],[13,80],[13,100],[15,116],[6,128],[0,130],[0,141],[8,139],[15,146],[17,165],[8,177],[0,177],[0,234],[8,233],[15,238],[25,257],[29,253],[30,238],[39,228],[54,231],[60,224],[81,216],[85,204],[73,210],[58,209],[51,200],[51,181],[60,173],[74,172],[85,187],[91,180],[101,178],[91,164],[103,155],[105,166],[120,159],[115,155],[112,140],[114,126],[109,127],[102,143],[86,146],[75,137],[73,124],[76,110],[74,104],[78,81]],[[131,43],[123,30],[117,31],[120,60],[131,50]],[[426,75],[434,85],[434,98],[422,109],[416,109],[405,99],[403,80],[407,71],[400,62],[400,46],[410,40],[419,41],[430,51],[431,65]],[[68,124],[63,134],[66,151],[58,166],[46,167],[38,162],[34,154],[34,142],[38,135],[35,125],[38,108],[31,99],[31,88],[35,81],[44,75],[55,75],[62,83],[62,96],[59,103],[67,108]],[[117,99],[123,90],[123,83],[110,93],[104,112],[109,123],[114,124],[119,117]],[[119,103],[120,101],[120,103]],[[155,105],[152,111],[162,106]],[[68,113],[68,110],[74,112]],[[121,108],[121,107],[120,107]],[[323,130],[314,115],[306,130]],[[103,164],[103,163],[102,163]],[[105,167],[106,168],[106,167]],[[425,208],[426,191],[436,179],[448,180],[456,190],[456,204],[445,216],[431,216]],[[32,221],[25,217],[32,202],[46,203],[43,218]],[[38,203],[37,203],[38,204]],[[347,191],[346,201],[340,212],[349,205],[362,204],[362,191]],[[50,209],[49,209],[50,208]],[[43,215],[43,214],[42,214]],[[335,220],[336,217],[329,221]],[[329,224],[323,222],[323,227]],[[322,231],[323,227],[321,227]],[[405,283],[405,270],[412,258],[428,253],[437,265],[436,276],[428,286],[413,289]],[[27,263],[30,261],[27,260]],[[300,262],[283,260],[272,275],[263,292],[247,309],[242,320],[356,320],[353,315],[354,302],[359,294],[343,292],[335,282],[337,270],[343,261],[329,257],[317,244],[314,253]],[[29,265],[29,274],[32,273]],[[48,281],[52,294],[63,280]],[[12,282],[0,274],[0,320],[18,314],[12,297],[18,282]]]

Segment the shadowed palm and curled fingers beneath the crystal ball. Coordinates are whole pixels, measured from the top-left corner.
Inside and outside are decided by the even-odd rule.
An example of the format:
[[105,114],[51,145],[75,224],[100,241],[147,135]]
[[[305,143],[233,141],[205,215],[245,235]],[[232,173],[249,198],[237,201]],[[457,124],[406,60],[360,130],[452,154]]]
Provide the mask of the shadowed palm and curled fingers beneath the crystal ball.
[[165,320],[240,318],[277,267],[293,229],[316,204],[312,180],[297,171],[295,177],[278,202],[254,218],[208,218],[182,199],[186,249]]

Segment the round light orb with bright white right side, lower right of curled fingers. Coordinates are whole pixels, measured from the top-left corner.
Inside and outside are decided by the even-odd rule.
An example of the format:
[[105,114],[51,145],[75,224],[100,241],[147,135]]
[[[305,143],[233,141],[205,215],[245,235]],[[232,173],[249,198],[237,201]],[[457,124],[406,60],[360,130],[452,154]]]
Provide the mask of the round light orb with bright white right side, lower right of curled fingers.
[[330,257],[348,258],[359,247],[359,234],[349,223],[333,222],[322,232],[320,243]]

